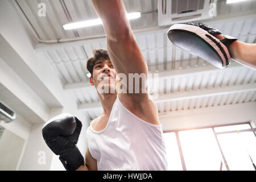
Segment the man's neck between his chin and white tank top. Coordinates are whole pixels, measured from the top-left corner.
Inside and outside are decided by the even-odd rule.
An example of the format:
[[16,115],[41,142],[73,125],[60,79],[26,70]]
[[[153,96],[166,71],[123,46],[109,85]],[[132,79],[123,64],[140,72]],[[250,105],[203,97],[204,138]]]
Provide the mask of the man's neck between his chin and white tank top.
[[111,113],[112,107],[114,105],[115,99],[117,98],[117,93],[104,93],[99,94],[98,97],[100,98],[101,105],[103,108],[102,114],[109,115]]

